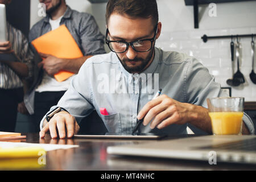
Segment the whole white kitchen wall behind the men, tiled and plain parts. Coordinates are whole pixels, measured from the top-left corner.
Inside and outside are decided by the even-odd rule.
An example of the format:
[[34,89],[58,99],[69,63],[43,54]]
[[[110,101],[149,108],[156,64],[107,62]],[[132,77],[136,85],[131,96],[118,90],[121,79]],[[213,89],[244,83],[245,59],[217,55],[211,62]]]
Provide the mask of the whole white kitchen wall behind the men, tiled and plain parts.
[[[84,0],[67,0],[72,9],[90,13],[96,18],[102,34],[105,34],[106,3],[91,4]],[[162,35],[156,46],[166,51],[185,52],[195,56],[222,87],[228,86],[231,77],[230,39],[214,39],[204,43],[201,36],[256,34],[256,1],[220,3],[216,6],[216,16],[210,17],[208,5],[199,8],[199,29],[193,28],[193,7],[185,6],[183,0],[158,0],[159,20]],[[38,1],[31,0],[31,20],[34,24],[38,16]],[[232,88],[232,96],[245,97],[245,101],[256,101],[256,85],[251,82],[250,38],[242,38],[241,72],[246,84]],[[108,50],[108,48],[106,48]],[[256,71],[256,70],[255,70]],[[203,79],[203,78],[202,78]]]

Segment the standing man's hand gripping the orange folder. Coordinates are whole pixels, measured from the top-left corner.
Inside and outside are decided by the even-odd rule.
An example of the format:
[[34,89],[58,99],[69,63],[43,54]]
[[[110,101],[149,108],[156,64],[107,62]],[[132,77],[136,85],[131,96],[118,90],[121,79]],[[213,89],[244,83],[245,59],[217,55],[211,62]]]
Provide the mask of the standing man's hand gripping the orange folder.
[[39,55],[44,59],[38,63],[38,67],[46,71],[49,76],[53,76],[64,68],[64,64],[67,63],[64,59],[58,57],[47,55],[45,53],[39,53]]

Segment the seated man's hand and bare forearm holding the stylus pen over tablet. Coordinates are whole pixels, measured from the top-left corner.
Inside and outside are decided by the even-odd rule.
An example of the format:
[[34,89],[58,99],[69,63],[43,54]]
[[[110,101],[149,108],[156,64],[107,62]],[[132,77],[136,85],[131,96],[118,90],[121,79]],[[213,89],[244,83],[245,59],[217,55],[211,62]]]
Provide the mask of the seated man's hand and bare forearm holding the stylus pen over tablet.
[[150,121],[150,128],[163,129],[172,124],[183,125],[191,123],[200,129],[212,133],[212,126],[208,109],[204,107],[178,102],[166,95],[157,97],[148,102],[138,114],[138,119],[144,117],[143,125]]

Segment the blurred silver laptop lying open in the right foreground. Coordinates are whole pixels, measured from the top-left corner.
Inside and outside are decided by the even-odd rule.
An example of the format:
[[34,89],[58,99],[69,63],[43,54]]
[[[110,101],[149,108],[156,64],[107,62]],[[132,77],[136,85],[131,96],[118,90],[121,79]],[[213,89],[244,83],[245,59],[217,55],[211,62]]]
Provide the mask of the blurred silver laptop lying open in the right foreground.
[[256,164],[255,135],[207,135],[110,146],[108,154]]

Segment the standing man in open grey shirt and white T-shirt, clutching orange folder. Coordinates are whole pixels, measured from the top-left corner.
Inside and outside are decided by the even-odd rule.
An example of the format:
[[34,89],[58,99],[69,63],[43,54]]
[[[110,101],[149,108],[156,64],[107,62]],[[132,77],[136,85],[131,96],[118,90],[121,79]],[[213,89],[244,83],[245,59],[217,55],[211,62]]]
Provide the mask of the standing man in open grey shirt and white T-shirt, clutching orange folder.
[[[81,65],[93,55],[106,53],[104,49],[105,37],[101,34],[92,15],[72,10],[64,0],[40,0],[39,2],[44,3],[47,16],[34,24],[28,40],[32,42],[65,24],[84,56],[78,59],[60,59],[39,52],[40,57],[44,60],[38,60],[35,63],[38,69],[38,72],[35,72],[35,84],[24,97],[27,110],[32,114],[36,131],[40,130],[39,123],[43,115],[52,105],[57,104],[67,91],[69,83],[79,72]],[[75,75],[58,82],[53,75],[60,70],[73,72]]]

